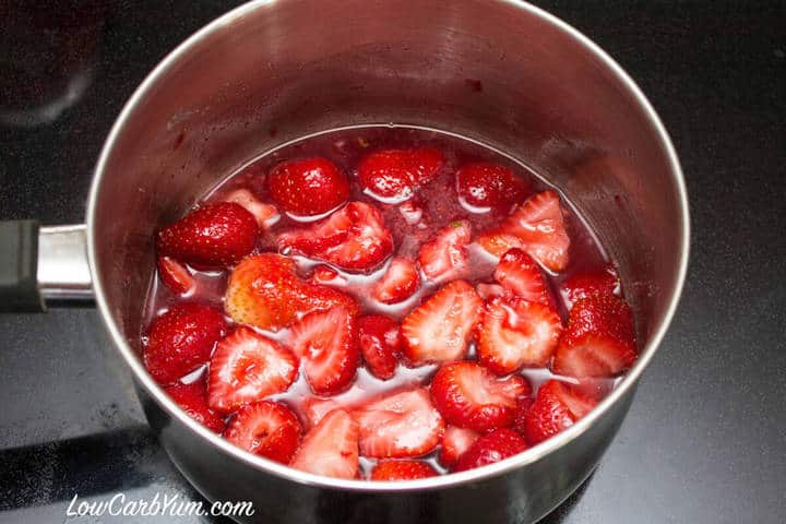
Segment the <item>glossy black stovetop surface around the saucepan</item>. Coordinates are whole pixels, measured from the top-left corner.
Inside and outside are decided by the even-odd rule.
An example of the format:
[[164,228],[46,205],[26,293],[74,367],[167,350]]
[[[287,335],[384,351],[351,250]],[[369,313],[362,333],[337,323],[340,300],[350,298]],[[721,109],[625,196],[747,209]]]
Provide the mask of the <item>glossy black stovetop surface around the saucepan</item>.
[[[235,3],[0,2],[0,218],[81,222],[123,102]],[[682,302],[631,413],[597,473],[546,522],[783,522],[786,5],[539,5],[647,94],[680,154],[693,223]],[[0,315],[0,522],[63,522],[75,493],[199,500],[152,439],[94,310]]]

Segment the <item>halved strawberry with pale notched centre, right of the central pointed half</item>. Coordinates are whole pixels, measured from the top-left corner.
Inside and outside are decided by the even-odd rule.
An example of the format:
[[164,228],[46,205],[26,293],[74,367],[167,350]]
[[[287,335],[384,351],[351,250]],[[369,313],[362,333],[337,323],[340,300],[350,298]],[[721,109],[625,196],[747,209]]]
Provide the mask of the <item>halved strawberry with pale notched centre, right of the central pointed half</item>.
[[478,361],[496,374],[548,365],[562,334],[551,306],[521,298],[495,298],[478,330]]

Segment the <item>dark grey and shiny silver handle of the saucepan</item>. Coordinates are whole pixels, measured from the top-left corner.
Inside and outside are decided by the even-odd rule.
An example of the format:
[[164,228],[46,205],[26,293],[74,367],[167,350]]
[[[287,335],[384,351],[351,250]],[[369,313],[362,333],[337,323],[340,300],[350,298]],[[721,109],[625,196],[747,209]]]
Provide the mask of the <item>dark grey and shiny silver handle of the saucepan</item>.
[[91,305],[93,279],[84,225],[0,222],[0,312]]

